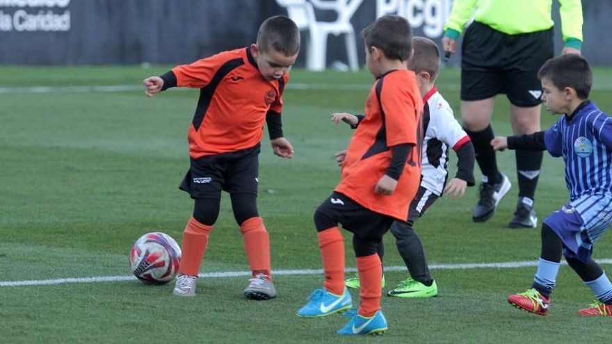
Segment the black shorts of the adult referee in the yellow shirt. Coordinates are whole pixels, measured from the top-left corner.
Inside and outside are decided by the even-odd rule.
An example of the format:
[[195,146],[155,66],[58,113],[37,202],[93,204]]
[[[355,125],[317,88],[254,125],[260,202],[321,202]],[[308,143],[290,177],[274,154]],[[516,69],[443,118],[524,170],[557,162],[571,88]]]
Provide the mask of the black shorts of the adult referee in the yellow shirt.
[[542,103],[538,70],[554,56],[553,29],[507,35],[473,22],[461,52],[461,100],[505,93],[515,106]]

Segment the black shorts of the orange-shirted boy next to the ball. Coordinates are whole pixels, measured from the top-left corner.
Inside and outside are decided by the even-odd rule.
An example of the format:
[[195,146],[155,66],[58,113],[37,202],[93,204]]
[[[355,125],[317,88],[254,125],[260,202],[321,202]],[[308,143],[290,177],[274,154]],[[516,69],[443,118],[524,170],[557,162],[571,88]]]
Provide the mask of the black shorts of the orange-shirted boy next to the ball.
[[257,145],[198,160],[191,158],[191,167],[179,188],[197,199],[221,199],[221,190],[257,195],[259,151]]

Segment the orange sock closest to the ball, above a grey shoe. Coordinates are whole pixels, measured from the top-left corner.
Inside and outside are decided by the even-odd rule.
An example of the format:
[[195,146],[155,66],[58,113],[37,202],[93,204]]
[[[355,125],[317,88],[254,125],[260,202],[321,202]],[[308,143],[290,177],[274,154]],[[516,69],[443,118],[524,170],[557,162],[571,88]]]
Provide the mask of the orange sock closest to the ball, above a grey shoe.
[[212,226],[207,226],[191,217],[183,231],[183,245],[181,248],[181,265],[179,274],[198,276],[200,263],[208,245],[208,235]]

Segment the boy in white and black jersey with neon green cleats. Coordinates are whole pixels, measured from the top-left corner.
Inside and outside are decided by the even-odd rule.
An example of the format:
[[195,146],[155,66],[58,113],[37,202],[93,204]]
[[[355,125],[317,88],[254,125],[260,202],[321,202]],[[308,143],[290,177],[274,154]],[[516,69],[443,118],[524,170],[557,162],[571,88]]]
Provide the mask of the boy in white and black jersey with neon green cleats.
[[[395,221],[390,228],[410,277],[401,281],[387,295],[396,297],[431,297],[437,295],[437,285],[430,276],[421,238],[412,225],[442,194],[461,197],[466,186],[474,186],[474,146],[467,133],[453,116],[453,110],[435,87],[440,72],[440,50],[427,38],[413,39],[414,55],[408,61],[408,69],[417,75],[423,97],[423,132],[421,185],[410,204],[406,222]],[[344,121],[354,129],[363,119],[361,115],[335,113],[332,122]],[[458,156],[456,176],[447,181],[449,148]],[[344,162],[344,152],[337,153],[337,162]],[[383,245],[378,255],[383,258]],[[384,280],[383,280],[384,281]],[[346,286],[359,288],[359,278],[346,280]],[[384,283],[383,283],[384,287]]]

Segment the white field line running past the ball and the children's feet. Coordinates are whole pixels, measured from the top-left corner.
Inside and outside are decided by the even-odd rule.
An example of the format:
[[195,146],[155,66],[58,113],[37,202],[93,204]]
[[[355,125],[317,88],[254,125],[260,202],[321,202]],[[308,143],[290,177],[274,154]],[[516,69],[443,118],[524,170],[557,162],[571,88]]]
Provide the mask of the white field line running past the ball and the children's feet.
[[[612,264],[612,259],[597,259],[599,264]],[[562,264],[567,265],[565,261]],[[506,261],[501,263],[467,263],[467,264],[433,264],[431,270],[471,270],[471,269],[508,269],[538,266],[537,261]],[[405,266],[385,266],[385,271],[404,271]],[[348,268],[346,272],[355,272],[355,268]],[[276,276],[283,275],[322,275],[323,270],[275,270]],[[220,277],[241,277],[250,276],[250,271],[225,271],[208,272],[200,274],[200,277],[220,278]],[[99,282],[119,282],[135,280],[134,276],[100,276],[100,277],[81,277],[81,278],[60,278],[60,279],[38,279],[31,281],[0,281],[0,287],[6,286],[45,286],[54,284],[72,283],[99,283]]]

